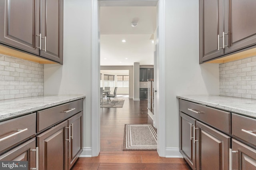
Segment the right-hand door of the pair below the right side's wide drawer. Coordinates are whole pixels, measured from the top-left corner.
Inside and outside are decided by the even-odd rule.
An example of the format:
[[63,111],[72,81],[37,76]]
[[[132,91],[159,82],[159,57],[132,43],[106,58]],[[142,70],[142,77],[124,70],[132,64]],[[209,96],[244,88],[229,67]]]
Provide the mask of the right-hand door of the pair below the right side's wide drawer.
[[196,169],[229,170],[230,136],[198,121],[196,127]]

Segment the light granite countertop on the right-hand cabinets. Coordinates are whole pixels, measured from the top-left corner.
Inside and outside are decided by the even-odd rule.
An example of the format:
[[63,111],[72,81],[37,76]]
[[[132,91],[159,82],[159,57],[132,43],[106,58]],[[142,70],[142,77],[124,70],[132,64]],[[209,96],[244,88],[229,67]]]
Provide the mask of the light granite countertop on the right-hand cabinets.
[[218,95],[180,95],[177,98],[256,118],[256,99]]

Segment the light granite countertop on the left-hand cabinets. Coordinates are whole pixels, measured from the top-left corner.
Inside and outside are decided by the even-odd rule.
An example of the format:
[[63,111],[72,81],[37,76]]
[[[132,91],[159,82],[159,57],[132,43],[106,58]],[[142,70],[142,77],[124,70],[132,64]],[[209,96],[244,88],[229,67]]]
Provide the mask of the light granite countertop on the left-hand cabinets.
[[0,101],[0,121],[46,109],[70,101],[85,98],[84,95],[52,95],[24,97]]

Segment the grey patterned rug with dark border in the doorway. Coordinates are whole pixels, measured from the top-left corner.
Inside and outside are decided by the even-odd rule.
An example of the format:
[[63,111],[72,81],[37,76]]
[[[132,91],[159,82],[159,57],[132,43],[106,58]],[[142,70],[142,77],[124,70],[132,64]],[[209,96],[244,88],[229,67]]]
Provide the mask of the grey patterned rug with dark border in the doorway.
[[124,125],[123,150],[156,150],[157,134],[151,125]]

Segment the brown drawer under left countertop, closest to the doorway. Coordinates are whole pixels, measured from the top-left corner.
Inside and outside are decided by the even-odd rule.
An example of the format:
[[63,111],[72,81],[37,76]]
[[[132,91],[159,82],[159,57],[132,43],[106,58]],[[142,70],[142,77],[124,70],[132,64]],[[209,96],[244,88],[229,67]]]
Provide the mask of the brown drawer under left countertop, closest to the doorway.
[[37,112],[37,132],[68,119],[83,110],[83,99]]

